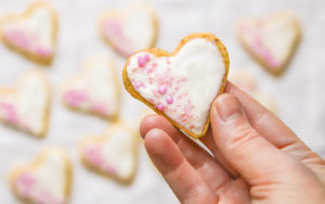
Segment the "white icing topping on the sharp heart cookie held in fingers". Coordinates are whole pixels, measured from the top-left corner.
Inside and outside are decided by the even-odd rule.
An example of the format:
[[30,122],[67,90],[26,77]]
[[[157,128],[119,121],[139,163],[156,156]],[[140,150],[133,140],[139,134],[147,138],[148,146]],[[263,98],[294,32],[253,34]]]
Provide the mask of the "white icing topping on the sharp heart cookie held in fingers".
[[[225,74],[223,58],[217,44],[196,38],[186,42],[174,56],[157,58],[148,54],[148,64],[156,64],[152,72],[139,67],[138,59],[145,54],[136,53],[127,65],[128,78],[133,87],[152,104],[162,104],[164,113],[172,120],[194,133],[200,133]],[[159,91],[155,93],[157,86],[160,86],[159,80],[168,87],[164,94]],[[177,80],[181,82],[178,85]],[[139,84],[142,86],[136,88]],[[172,95],[171,104],[168,104],[167,95]],[[184,112],[190,113],[182,117]]]

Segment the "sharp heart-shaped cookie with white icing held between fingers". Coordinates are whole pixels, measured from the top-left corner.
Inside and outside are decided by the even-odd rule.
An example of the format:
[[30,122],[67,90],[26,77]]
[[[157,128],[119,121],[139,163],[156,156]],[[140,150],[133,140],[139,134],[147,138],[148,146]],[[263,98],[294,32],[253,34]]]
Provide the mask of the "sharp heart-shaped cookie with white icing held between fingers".
[[145,49],[123,68],[126,89],[193,138],[205,136],[209,111],[223,91],[229,56],[211,34],[192,34],[172,53]]

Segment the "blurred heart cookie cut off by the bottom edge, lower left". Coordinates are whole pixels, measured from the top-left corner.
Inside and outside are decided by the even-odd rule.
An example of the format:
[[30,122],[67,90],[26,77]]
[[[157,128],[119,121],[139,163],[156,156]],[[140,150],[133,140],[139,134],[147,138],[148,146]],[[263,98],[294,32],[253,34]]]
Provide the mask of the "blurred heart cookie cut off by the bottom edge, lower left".
[[70,194],[72,164],[62,149],[48,148],[32,164],[14,168],[10,183],[14,194],[36,204],[64,204]]

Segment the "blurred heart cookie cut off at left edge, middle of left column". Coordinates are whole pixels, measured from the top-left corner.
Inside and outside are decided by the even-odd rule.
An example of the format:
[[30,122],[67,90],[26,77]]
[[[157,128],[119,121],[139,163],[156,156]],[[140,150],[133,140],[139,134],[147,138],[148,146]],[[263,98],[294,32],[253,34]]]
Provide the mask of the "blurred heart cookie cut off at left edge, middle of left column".
[[0,88],[0,120],[42,137],[48,131],[50,88],[39,72],[24,74],[15,88]]

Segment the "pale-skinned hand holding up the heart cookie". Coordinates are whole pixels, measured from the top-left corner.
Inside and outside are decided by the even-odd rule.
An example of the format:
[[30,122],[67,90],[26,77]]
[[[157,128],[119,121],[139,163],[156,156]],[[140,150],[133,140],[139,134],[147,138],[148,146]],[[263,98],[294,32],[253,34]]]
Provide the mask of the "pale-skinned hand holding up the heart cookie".
[[197,145],[165,117],[141,124],[146,151],[184,204],[325,203],[325,162],[283,122],[227,82]]

